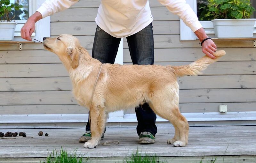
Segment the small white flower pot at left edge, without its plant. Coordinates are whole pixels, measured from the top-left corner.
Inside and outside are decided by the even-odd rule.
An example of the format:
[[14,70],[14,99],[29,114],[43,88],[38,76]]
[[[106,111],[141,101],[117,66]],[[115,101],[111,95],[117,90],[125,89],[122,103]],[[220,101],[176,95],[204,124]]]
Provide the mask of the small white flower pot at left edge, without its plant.
[[0,41],[13,41],[16,22],[0,22]]

